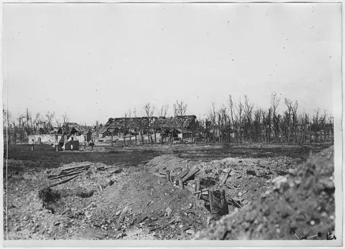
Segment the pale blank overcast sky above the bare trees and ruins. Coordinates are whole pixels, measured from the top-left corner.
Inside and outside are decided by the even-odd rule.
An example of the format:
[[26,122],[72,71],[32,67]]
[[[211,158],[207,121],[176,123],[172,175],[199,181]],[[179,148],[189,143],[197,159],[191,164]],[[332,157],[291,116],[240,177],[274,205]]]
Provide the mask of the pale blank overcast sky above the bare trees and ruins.
[[4,4],[3,55],[12,116],[92,125],[182,100],[202,117],[229,94],[267,108],[273,91],[331,112],[341,4]]

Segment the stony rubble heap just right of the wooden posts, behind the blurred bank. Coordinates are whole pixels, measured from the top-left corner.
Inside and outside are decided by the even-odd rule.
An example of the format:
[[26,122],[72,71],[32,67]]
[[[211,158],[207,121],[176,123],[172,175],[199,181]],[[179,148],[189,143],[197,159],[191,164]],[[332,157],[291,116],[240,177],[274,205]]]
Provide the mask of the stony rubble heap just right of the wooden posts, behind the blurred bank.
[[[296,160],[287,157],[227,158],[201,163],[195,179],[200,180],[202,188],[225,190],[227,196],[248,205],[260,199],[273,178],[288,174],[288,169],[297,165]],[[230,206],[230,210],[237,207]]]

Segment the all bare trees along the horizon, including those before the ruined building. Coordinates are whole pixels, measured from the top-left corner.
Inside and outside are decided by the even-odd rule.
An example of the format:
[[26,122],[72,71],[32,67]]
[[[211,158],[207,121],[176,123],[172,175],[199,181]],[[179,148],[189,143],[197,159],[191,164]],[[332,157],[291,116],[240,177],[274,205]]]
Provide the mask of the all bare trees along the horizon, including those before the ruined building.
[[[216,107],[212,103],[208,118],[199,120],[200,127],[193,131],[193,135],[198,138],[204,138],[209,142],[277,142],[277,143],[308,143],[308,142],[333,142],[334,128],[333,117],[327,111],[321,112],[315,109],[315,113],[308,114],[305,111],[298,112],[298,101],[283,99],[273,92],[270,99],[270,107],[264,109],[254,106],[248,96],[244,96],[244,100],[239,99],[233,101],[231,95],[228,100]],[[139,130],[141,134],[141,142],[144,143],[144,129],[147,129],[148,143],[156,141],[156,129],[161,130],[161,142],[163,142],[163,120],[161,124],[157,122],[156,127],[151,127],[152,117],[157,115],[166,117],[169,106],[162,106],[156,113],[155,107],[151,103],[147,103],[143,107],[143,113],[147,117],[147,121],[138,119],[137,122],[127,122],[134,119],[136,121],[137,114],[129,110],[124,113],[125,122],[123,129],[123,141],[126,145],[126,135],[133,129]],[[187,104],[183,101],[176,101],[173,105],[173,115],[178,121],[178,127],[181,128],[183,142],[185,115]],[[27,108],[25,112],[18,115],[14,119],[11,114],[3,108],[3,126],[4,141],[23,142],[30,134],[39,132],[50,132],[55,127],[68,127],[68,116],[64,114],[62,119],[56,118],[54,112],[46,112],[44,114],[32,112]],[[148,124],[143,124],[148,122]],[[139,125],[138,125],[139,124]],[[174,123],[173,123],[174,124]],[[135,127],[134,127],[135,126]],[[101,127],[96,121],[95,127]],[[206,127],[206,129],[202,129]],[[154,139],[152,135],[154,134]],[[7,136],[7,137],[6,137]],[[130,136],[131,143],[131,136]],[[135,135],[135,144],[137,137]]]

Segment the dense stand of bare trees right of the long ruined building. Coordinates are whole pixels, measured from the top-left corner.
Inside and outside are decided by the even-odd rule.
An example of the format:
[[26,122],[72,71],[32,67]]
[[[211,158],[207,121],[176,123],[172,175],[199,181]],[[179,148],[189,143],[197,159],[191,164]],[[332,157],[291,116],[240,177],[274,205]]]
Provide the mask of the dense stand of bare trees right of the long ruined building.
[[237,102],[229,95],[219,108],[212,103],[205,133],[210,142],[333,142],[333,117],[319,108],[313,115],[298,113],[298,107],[298,101],[281,101],[275,92],[267,109],[254,107],[247,95]]

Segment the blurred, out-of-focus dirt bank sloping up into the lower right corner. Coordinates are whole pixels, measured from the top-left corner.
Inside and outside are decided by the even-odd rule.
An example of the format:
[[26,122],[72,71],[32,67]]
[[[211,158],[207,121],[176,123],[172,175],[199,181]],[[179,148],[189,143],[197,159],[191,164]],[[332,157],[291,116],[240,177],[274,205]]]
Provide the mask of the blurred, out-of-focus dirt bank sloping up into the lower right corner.
[[260,201],[214,222],[196,239],[326,239],[334,230],[333,146],[273,180]]

